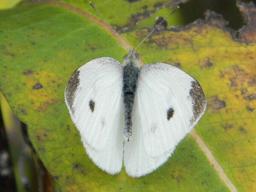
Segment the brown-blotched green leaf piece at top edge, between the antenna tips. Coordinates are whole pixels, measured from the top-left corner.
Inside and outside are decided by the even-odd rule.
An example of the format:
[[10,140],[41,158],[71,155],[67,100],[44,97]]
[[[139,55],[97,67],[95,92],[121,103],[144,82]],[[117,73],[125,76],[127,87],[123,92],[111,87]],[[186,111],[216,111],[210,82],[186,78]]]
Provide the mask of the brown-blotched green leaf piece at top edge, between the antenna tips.
[[[183,0],[183,3],[186,1]],[[61,0],[60,2],[82,9],[102,20],[91,9],[89,3],[84,3],[84,0]],[[58,2],[52,3],[59,4]],[[160,2],[159,0],[122,0],[117,3],[117,1],[112,0],[102,3],[101,0],[93,0],[92,3],[105,18],[108,18],[108,23],[116,26],[117,29],[138,29],[138,27],[145,25],[153,27],[156,16],[166,17],[172,11],[170,8],[173,8],[178,2],[170,0],[162,0]],[[175,17],[175,15],[180,15],[179,11],[167,19],[168,23],[176,25],[181,21],[180,17]],[[142,22],[138,23],[138,21]]]

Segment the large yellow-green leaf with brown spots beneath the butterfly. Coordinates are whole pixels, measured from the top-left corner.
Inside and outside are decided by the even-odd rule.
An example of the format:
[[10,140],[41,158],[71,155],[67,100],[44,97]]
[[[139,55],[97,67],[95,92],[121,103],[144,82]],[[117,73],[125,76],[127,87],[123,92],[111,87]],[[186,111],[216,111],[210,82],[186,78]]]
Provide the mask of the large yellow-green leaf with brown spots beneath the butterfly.
[[[122,3],[133,8],[130,15],[142,10],[140,1]],[[95,5],[110,23],[120,23],[122,28],[129,25],[127,15],[126,20],[120,19],[122,3]],[[76,6],[94,12],[84,1]],[[61,4],[22,3],[1,11],[0,23],[1,92],[29,125],[36,151],[63,191],[229,190],[190,135],[163,166],[144,177],[128,177],[124,168],[117,175],[100,170],[82,146],[64,103],[64,89],[82,64],[102,56],[122,62],[127,51],[94,18]],[[122,37],[135,47],[147,34],[147,29],[138,29]],[[253,191],[256,47],[246,32],[241,32],[245,38],[239,40],[232,34],[223,20],[208,14],[207,21],[155,32],[138,53],[145,63],[173,64],[199,81],[208,108],[196,132],[237,189]]]

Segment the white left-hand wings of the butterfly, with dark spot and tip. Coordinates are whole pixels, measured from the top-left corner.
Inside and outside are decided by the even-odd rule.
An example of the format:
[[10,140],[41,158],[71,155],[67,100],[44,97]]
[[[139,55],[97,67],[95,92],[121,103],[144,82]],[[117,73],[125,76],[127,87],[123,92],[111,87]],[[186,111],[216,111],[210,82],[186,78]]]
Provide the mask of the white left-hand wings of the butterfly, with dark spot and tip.
[[73,73],[65,90],[65,102],[87,153],[111,174],[122,167],[122,73],[119,61],[96,58]]

